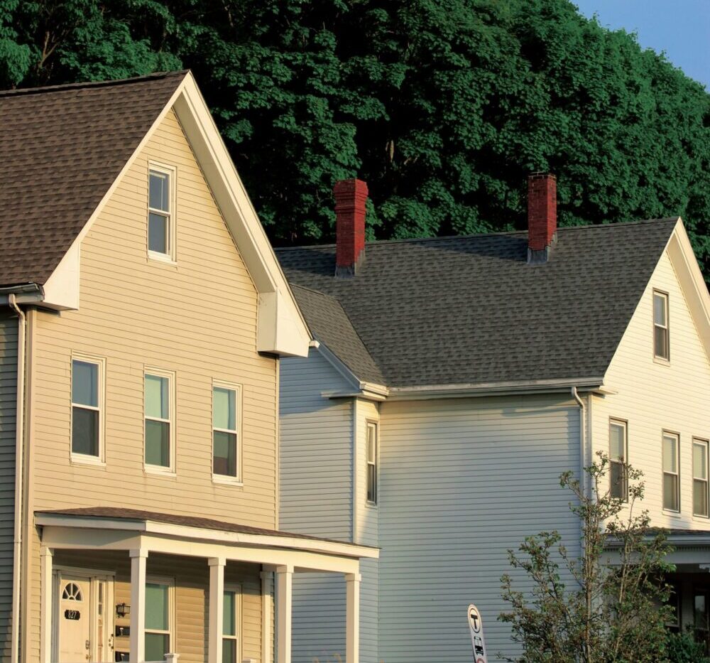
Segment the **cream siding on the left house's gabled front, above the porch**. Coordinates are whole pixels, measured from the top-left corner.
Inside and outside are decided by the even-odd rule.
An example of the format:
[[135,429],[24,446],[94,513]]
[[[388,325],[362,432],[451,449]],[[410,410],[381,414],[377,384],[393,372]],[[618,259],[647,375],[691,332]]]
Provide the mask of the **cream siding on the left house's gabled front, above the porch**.
[[[149,160],[177,169],[174,265],[147,257]],[[130,507],[276,527],[276,360],[256,352],[257,303],[170,112],[82,240],[80,311],[36,316],[30,509]],[[70,460],[72,352],[106,360],[105,467]],[[175,477],[143,469],[145,367],[175,372]],[[243,487],[212,482],[213,379],[242,386]],[[29,642],[38,647],[36,535],[33,544]]]

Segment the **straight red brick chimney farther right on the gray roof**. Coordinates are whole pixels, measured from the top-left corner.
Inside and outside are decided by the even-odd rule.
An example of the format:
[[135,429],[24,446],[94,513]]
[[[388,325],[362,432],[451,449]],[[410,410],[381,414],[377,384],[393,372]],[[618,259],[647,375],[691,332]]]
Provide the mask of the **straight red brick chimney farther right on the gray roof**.
[[557,241],[557,178],[546,173],[528,176],[528,262],[547,262]]

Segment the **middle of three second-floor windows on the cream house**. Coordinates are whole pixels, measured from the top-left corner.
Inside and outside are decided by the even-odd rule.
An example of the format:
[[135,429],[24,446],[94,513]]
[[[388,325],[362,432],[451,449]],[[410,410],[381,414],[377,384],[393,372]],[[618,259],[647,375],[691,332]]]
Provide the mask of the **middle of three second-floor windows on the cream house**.
[[145,377],[146,465],[173,469],[173,376],[148,371]]

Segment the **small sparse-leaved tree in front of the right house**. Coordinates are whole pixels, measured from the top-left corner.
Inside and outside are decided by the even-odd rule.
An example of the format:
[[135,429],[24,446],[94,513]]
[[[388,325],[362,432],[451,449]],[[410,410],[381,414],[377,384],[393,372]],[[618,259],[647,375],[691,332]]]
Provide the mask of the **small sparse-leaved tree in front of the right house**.
[[513,568],[532,581],[532,592],[502,578],[510,611],[500,619],[513,629],[525,663],[667,662],[667,605],[670,586],[663,580],[673,567],[663,532],[652,532],[648,512],[636,513],[643,500],[642,473],[626,465],[628,504],[611,496],[609,460],[585,469],[590,489],[571,472],[560,485],[572,491],[570,509],[581,524],[581,556],[570,553],[558,532],[527,537],[518,553],[508,551]]

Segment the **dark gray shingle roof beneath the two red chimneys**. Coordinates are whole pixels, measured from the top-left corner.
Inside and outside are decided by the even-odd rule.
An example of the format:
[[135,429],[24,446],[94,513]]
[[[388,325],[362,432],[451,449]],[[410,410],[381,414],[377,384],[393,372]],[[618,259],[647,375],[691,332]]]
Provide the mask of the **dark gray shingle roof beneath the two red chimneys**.
[[601,379],[676,222],[560,228],[535,266],[525,232],[370,242],[353,279],[334,278],[333,245],[276,253],[290,284],[342,305],[296,290],[319,340],[388,387]]

